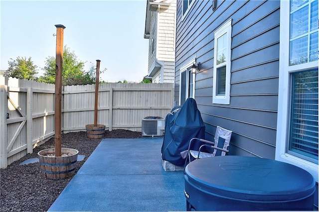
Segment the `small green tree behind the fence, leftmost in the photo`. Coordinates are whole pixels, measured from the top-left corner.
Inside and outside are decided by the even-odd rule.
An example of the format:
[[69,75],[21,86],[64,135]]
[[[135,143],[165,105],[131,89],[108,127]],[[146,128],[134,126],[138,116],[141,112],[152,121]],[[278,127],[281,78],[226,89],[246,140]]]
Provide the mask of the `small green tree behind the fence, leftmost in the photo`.
[[10,58],[8,61],[9,68],[4,72],[4,76],[13,77],[23,80],[36,81],[37,66],[33,65],[31,57],[17,57],[15,60]]

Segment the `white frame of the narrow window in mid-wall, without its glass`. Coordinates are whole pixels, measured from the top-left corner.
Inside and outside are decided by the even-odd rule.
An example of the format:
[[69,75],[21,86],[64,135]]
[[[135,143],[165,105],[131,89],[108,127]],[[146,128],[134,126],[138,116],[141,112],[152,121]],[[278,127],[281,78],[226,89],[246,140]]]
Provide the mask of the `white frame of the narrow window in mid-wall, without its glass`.
[[[231,70],[231,21],[228,20],[224,25],[214,33],[214,68],[213,68],[213,104],[230,104],[230,70]],[[227,33],[227,61],[217,65],[217,39]],[[226,65],[226,88],[225,95],[217,95],[217,68]]]

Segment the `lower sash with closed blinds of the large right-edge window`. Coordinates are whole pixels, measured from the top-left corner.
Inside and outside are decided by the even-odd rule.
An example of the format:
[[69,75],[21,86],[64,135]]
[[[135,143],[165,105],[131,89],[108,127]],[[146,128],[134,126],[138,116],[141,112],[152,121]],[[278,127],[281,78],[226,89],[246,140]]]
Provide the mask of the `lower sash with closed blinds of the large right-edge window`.
[[318,69],[291,74],[287,153],[318,164]]

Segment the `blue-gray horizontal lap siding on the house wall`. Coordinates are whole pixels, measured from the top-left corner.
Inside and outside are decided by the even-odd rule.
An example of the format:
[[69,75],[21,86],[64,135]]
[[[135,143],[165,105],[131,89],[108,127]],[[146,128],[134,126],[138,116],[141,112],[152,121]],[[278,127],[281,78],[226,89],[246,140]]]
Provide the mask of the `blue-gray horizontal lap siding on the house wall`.
[[[279,0],[196,0],[182,18],[177,1],[175,101],[179,68],[193,58],[201,63],[195,100],[213,139],[216,126],[233,130],[230,154],[275,159],[278,75]],[[212,104],[214,32],[232,19],[230,105]]]

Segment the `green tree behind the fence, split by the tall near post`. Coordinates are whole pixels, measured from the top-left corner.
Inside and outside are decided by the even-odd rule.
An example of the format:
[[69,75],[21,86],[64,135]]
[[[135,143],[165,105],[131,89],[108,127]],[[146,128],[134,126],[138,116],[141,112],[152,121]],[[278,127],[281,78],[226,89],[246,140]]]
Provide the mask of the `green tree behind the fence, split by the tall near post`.
[[[74,51],[64,46],[63,65],[62,65],[62,85],[84,85],[91,84],[90,75],[86,75],[84,71],[85,62],[78,61]],[[39,77],[40,82],[55,83],[55,57],[46,58],[45,66],[42,69],[44,75]]]

